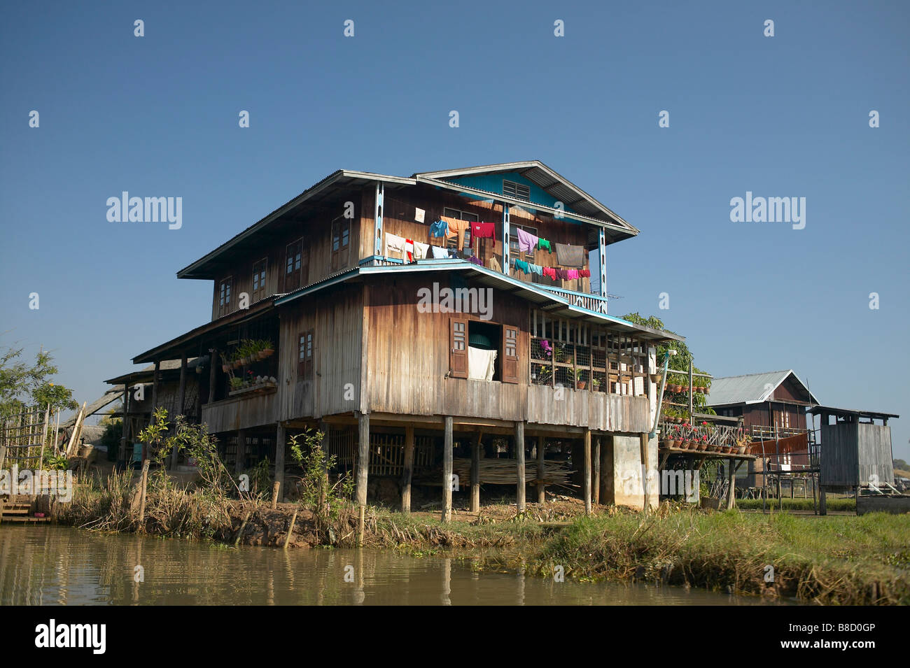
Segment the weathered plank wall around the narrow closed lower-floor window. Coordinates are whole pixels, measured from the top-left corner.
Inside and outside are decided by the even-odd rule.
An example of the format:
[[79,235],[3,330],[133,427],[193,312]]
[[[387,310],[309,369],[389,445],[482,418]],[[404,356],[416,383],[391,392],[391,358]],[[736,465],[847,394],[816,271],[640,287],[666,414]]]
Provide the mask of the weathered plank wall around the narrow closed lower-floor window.
[[[300,297],[280,311],[278,420],[349,413],[360,398],[362,286]],[[298,337],[314,331],[312,380],[298,376]]]

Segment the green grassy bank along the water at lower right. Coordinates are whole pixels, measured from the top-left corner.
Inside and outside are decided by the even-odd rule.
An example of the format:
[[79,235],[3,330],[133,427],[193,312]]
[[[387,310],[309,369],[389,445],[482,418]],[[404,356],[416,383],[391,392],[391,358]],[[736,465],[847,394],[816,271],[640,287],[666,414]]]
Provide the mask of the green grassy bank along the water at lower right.
[[[640,578],[825,604],[910,603],[910,516],[692,510],[580,518],[535,555],[581,578]],[[773,583],[766,583],[766,566]]]

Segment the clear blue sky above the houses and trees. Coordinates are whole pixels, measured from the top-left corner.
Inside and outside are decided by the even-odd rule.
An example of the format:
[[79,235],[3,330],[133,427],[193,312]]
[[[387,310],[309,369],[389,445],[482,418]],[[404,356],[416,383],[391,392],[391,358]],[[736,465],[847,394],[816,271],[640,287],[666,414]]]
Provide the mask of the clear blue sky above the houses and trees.
[[[642,231],[608,249],[613,314],[660,315],[714,375],[904,414],[910,459],[910,5],[306,5],[4,3],[0,344],[91,401],[207,321],[178,269],[330,172],[539,159]],[[124,190],[182,197],[182,228],[109,223]],[[747,191],[805,197],[805,228],[731,222]]]

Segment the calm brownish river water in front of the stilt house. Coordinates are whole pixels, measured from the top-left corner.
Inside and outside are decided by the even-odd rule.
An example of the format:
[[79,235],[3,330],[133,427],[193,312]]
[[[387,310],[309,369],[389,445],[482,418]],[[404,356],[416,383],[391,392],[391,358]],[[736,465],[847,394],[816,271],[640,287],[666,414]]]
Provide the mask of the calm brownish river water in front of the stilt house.
[[[141,580],[141,582],[136,582]],[[372,550],[227,547],[0,525],[0,605],[743,605],[682,587],[563,583]]]

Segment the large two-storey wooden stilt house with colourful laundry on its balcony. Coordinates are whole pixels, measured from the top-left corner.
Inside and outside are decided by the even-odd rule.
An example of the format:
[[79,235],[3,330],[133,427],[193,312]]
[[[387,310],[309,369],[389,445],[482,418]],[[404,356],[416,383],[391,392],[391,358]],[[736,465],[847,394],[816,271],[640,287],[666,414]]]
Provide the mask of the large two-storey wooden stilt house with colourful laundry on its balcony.
[[654,348],[681,339],[608,314],[607,246],[636,234],[538,161],[339,170],[181,269],[210,322],[134,362],[197,358],[200,420],[282,483],[312,426],[361,505],[435,483],[449,517],[504,483],[520,508],[546,484],[642,507]]

